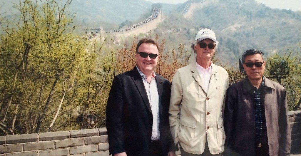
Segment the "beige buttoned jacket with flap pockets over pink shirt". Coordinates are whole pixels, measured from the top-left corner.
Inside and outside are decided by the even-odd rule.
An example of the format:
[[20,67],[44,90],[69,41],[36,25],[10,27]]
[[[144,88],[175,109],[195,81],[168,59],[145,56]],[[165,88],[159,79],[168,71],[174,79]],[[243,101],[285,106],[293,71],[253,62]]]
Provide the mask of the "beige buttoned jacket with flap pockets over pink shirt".
[[192,154],[202,154],[206,139],[211,154],[224,151],[223,107],[228,73],[212,65],[208,93],[195,63],[178,69],[172,80],[169,124],[173,139]]

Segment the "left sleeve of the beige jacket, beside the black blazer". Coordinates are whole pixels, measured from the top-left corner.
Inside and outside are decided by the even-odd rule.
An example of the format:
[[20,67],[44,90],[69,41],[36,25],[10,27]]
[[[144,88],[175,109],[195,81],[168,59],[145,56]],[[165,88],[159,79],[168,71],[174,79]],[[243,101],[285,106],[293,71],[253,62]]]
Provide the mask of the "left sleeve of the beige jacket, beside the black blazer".
[[180,126],[180,104],[182,101],[182,83],[180,78],[180,72],[177,70],[171,86],[171,98],[169,105],[169,124],[170,131],[172,133],[173,141],[175,144],[178,143],[178,132]]

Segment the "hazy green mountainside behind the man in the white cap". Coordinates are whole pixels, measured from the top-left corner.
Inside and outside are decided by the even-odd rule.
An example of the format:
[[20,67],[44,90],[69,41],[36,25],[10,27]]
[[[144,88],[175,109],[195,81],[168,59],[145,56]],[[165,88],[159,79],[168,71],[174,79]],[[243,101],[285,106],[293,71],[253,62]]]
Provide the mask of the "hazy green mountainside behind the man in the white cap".
[[[197,5],[194,2],[191,5]],[[255,0],[202,0],[190,18],[175,12],[155,32],[167,32],[161,35],[166,45],[176,48],[182,42],[189,49],[201,28],[216,32],[216,57],[221,62],[236,63],[250,48],[259,48],[266,56],[294,50],[301,57],[296,53],[300,52],[301,12],[271,9]]]

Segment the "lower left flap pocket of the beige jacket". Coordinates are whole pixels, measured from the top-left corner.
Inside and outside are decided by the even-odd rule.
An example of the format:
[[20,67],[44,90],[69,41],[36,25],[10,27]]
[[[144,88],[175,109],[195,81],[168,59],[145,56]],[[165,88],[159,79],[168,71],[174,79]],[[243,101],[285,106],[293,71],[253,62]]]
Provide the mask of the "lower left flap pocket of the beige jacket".
[[197,127],[197,121],[180,119],[180,131],[178,133],[179,141],[187,146],[191,146],[191,142],[194,140],[195,129]]

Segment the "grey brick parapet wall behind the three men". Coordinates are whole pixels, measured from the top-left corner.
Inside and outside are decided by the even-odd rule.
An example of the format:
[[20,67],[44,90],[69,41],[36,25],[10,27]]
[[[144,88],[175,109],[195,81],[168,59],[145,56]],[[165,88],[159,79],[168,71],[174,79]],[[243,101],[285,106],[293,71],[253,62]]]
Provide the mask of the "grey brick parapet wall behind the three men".
[[[288,114],[291,152],[301,153],[301,111]],[[106,128],[0,136],[0,156],[107,156],[108,150]]]

